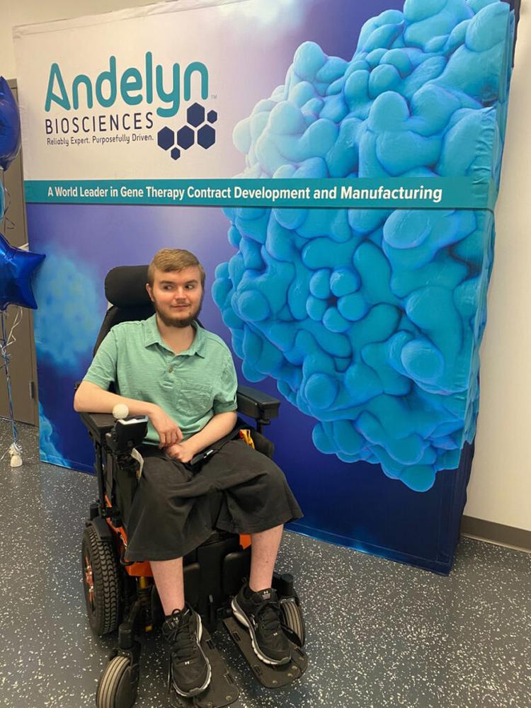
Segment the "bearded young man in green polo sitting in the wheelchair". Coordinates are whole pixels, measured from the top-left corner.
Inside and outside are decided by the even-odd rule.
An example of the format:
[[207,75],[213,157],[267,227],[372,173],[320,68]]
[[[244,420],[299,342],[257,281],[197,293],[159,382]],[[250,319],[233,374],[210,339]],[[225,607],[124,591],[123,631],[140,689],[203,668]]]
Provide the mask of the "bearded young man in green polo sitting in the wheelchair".
[[[185,603],[183,556],[211,532],[210,491],[222,491],[217,528],[251,534],[251,576],[232,603],[261,661],[290,661],[271,588],[285,523],[302,513],[282,471],[239,439],[228,440],[198,474],[185,467],[236,423],[236,372],[229,349],[197,326],[205,271],[189,251],[163,249],[146,285],[155,314],[113,327],[76,391],[76,411],[110,413],[124,403],[149,418],[144,469],[128,518],[128,561],[149,560],[171,646],[173,685],[183,696],[210,683],[201,619]],[[114,383],[118,393],[108,391]]]

